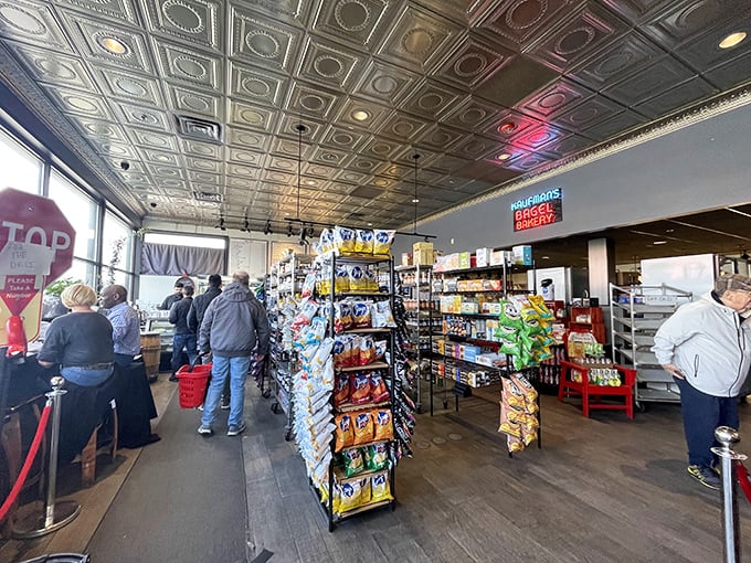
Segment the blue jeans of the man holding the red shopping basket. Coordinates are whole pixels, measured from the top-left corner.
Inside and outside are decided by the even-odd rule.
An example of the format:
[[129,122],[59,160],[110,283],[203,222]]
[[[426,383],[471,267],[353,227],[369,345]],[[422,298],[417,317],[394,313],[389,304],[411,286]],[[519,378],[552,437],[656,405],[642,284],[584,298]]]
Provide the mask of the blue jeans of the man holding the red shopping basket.
[[201,416],[201,424],[203,426],[211,427],[215,419],[216,407],[219,406],[219,400],[222,396],[222,389],[228,375],[230,378],[230,419],[228,424],[230,426],[243,424],[245,379],[251,367],[251,360],[250,355],[239,358],[213,357],[211,381],[209,382],[209,391],[203,402],[203,415]]

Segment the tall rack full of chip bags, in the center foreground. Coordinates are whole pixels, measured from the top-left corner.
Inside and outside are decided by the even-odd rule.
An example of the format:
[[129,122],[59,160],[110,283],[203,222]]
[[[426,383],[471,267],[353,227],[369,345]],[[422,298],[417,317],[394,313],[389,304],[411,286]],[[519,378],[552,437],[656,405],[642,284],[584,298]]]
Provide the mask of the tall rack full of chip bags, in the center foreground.
[[[352,236],[335,229],[340,237]],[[321,249],[325,236],[311,268],[315,293],[303,294],[292,323],[300,360],[293,375],[293,428],[310,489],[334,531],[353,516],[395,507],[395,467],[412,457],[414,404],[395,369],[401,351],[391,255]],[[392,234],[377,231],[379,236],[388,252]]]

